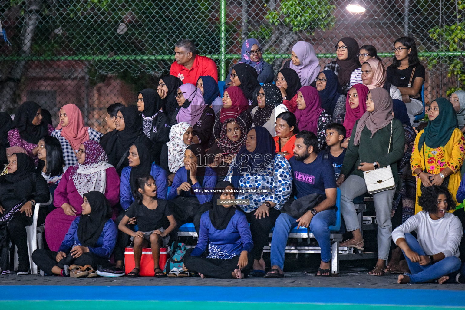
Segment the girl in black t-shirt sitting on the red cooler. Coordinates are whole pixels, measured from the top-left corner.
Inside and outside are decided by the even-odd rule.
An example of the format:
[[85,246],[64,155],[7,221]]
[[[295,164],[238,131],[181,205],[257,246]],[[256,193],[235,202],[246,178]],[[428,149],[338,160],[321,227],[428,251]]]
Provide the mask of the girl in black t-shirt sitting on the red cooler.
[[[132,236],[134,242],[134,269],[127,276],[139,277],[142,248],[150,245],[155,277],[164,277],[165,274],[159,267],[160,247],[168,244],[169,233],[176,227],[176,220],[166,200],[156,198],[157,185],[151,175],[143,174],[136,179],[133,194],[135,201],[118,225],[118,229]],[[170,222],[166,230],[162,227],[164,217]],[[137,218],[138,231],[132,231],[126,226],[129,218]]]

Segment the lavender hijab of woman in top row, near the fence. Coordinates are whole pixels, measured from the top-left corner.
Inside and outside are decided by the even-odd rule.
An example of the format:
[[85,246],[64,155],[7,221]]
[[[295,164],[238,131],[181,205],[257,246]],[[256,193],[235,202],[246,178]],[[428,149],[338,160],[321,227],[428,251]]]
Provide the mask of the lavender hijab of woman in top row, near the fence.
[[312,44],[305,41],[299,41],[292,46],[292,51],[294,51],[297,57],[299,57],[300,65],[295,66],[291,61],[289,68],[297,72],[302,86],[310,86],[313,80],[318,76],[320,69],[317,54],[315,53]]

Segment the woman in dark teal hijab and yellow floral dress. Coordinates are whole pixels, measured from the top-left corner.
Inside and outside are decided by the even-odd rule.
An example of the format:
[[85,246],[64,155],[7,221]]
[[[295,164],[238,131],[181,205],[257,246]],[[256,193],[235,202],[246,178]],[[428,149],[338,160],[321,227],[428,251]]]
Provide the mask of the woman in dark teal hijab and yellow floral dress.
[[462,180],[460,167],[465,156],[464,135],[458,129],[452,103],[445,98],[434,100],[428,117],[428,125],[415,139],[410,159],[412,175],[418,178],[415,214],[422,210],[418,204],[421,184],[429,187],[448,181],[447,189],[457,204],[455,196]]

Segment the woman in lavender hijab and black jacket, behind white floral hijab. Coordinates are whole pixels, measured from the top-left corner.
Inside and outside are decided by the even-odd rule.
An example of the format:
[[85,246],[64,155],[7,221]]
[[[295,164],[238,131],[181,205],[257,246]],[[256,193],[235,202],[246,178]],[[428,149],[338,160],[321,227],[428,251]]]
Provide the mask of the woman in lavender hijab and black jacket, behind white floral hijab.
[[176,115],[177,123],[191,124],[194,129],[192,144],[206,147],[212,136],[215,112],[205,105],[202,91],[193,84],[183,84],[178,88],[176,100],[180,107]]

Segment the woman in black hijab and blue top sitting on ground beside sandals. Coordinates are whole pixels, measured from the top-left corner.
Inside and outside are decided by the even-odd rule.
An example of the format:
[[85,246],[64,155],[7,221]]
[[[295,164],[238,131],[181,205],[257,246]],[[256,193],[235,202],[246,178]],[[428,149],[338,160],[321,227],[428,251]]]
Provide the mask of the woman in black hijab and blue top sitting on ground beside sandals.
[[74,219],[58,252],[37,249],[32,254],[34,263],[47,275],[97,277],[97,265],[110,266],[108,258],[117,236],[110,203],[100,191],[89,191],[81,206],[82,215]]

